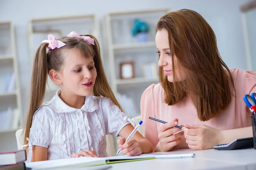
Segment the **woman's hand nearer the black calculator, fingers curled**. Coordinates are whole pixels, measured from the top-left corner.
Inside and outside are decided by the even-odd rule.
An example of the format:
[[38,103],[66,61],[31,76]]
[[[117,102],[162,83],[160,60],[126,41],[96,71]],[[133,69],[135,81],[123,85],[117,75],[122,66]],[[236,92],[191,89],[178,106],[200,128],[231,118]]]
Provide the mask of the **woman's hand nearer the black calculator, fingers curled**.
[[185,125],[182,130],[191,149],[210,149],[219,144],[221,130],[207,125]]

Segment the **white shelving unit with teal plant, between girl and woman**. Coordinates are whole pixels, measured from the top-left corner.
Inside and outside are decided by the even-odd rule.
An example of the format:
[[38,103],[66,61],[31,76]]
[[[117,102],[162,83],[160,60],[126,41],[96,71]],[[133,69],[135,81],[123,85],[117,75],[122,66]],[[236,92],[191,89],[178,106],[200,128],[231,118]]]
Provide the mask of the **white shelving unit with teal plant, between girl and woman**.
[[[158,55],[155,44],[155,27],[157,21],[169,8],[113,12],[105,16],[106,44],[108,45],[109,68],[111,73],[111,88],[116,94],[125,94],[132,98],[140,111],[140,99],[143,91],[153,84],[158,83],[158,77],[145,78],[143,75],[144,63],[155,63],[157,72]],[[148,41],[138,42],[133,37],[131,30],[134,19],[140,19],[148,24],[150,31]],[[132,79],[121,79],[120,63],[133,62],[135,77]],[[140,115],[134,113],[133,116]],[[129,116],[129,115],[128,115]]]

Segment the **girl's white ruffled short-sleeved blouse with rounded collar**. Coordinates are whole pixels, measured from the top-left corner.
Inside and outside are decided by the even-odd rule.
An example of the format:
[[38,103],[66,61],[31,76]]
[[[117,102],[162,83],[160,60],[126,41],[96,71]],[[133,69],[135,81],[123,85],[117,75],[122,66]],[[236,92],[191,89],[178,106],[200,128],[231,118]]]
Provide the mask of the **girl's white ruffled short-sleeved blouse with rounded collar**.
[[29,161],[32,145],[48,148],[47,160],[70,158],[81,150],[95,150],[107,157],[106,135],[118,136],[128,124],[134,124],[106,97],[86,96],[81,109],[66,105],[57,91],[33,116],[29,134]]

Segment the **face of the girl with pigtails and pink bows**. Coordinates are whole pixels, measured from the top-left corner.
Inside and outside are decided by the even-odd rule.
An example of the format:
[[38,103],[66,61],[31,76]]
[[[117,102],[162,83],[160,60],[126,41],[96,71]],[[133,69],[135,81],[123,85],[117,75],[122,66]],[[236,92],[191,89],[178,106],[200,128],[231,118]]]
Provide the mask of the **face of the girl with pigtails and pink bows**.
[[93,57],[81,56],[78,49],[63,51],[64,66],[61,74],[61,90],[78,96],[93,94],[93,86],[97,77]]

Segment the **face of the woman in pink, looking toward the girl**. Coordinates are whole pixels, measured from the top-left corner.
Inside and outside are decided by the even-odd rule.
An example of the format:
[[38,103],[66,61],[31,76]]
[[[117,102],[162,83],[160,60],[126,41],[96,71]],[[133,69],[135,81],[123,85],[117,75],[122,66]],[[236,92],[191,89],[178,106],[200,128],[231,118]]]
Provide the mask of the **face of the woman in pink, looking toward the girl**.
[[182,81],[186,79],[184,75],[182,76],[181,73],[177,72],[181,68],[181,66],[178,64],[176,56],[174,57],[174,62],[172,63],[172,54],[170,51],[170,45],[168,40],[168,32],[165,29],[158,30],[156,34],[156,45],[157,45],[157,53],[160,54],[158,66],[163,67],[164,73],[166,74],[169,82],[174,82],[173,79],[173,70],[172,65],[175,64],[175,71],[177,74],[177,81]]

